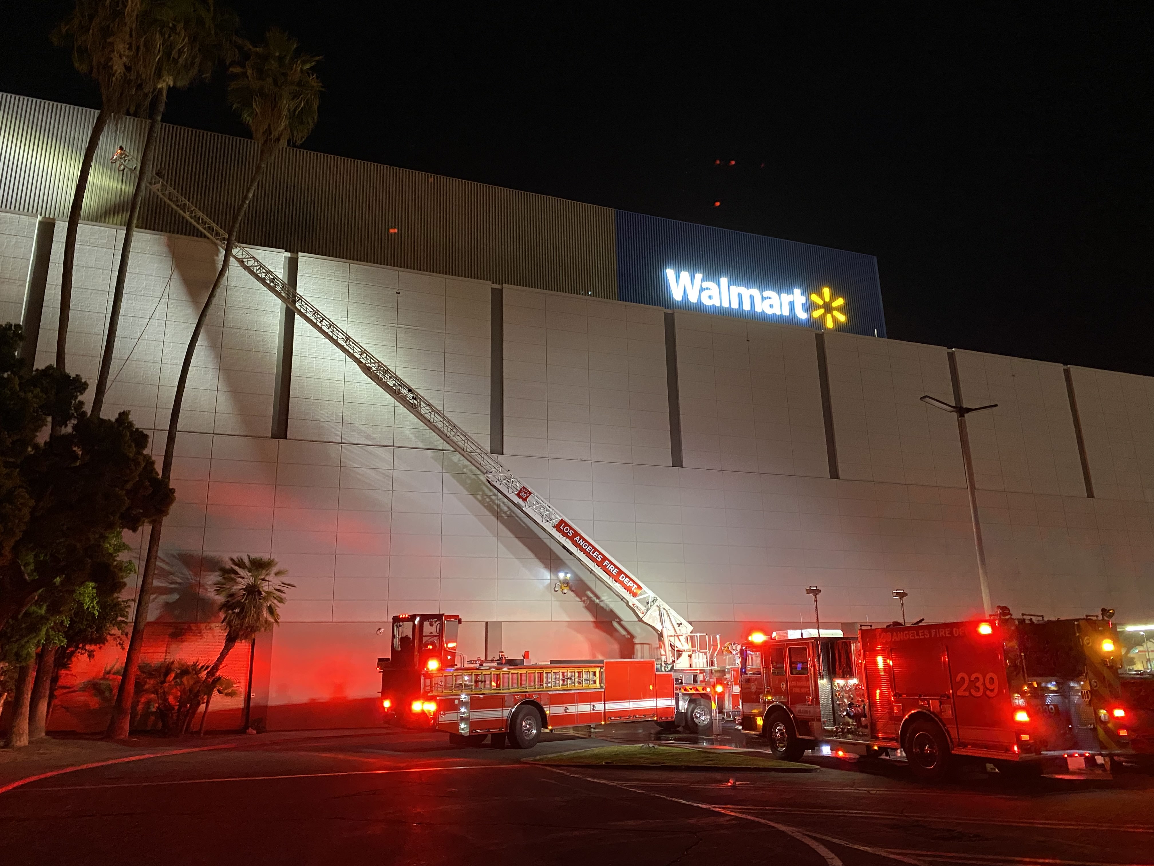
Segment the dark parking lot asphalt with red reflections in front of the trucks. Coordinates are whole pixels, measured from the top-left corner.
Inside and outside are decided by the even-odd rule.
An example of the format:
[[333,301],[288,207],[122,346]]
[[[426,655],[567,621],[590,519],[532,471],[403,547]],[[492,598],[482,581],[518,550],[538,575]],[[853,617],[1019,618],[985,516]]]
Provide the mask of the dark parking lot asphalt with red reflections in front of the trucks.
[[237,740],[105,764],[0,794],[5,864],[1154,864],[1154,777],[965,772],[896,762],[811,774],[520,759],[381,731]]

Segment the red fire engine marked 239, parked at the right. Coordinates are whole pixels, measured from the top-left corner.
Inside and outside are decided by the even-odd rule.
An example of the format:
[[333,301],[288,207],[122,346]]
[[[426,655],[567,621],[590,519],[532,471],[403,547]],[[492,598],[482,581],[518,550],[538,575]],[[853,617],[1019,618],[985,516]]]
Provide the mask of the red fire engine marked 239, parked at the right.
[[[1092,775],[1132,754],[1110,617],[1004,615],[840,630],[755,632],[741,649],[741,727],[779,757],[904,754],[936,778],[954,756]],[[1109,614],[1109,615],[1108,615]]]

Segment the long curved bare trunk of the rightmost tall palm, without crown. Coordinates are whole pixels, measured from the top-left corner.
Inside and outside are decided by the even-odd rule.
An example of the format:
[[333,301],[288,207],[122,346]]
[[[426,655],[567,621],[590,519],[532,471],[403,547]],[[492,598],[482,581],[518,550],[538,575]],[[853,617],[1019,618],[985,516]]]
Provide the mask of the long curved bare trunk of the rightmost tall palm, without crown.
[[[232,260],[232,248],[237,242],[237,230],[240,229],[240,221],[248,210],[256,185],[268,165],[269,155],[262,155],[261,162],[253,172],[248,181],[245,196],[240,200],[235,214],[232,217],[232,225],[228,226],[228,239],[224,245],[224,259],[220,269],[217,271],[209,297],[204,299],[201,314],[196,316],[196,324],[193,327],[192,336],[188,338],[188,348],[185,350],[185,360],[180,365],[180,378],[177,380],[177,393],[172,397],[172,412],[168,415],[168,436],[164,445],[164,462],[160,464],[160,480],[167,485],[172,479],[172,461],[177,450],[177,428],[180,426],[180,408],[185,402],[185,388],[188,385],[188,373],[193,366],[193,356],[196,353],[196,344],[201,339],[201,331],[204,330],[204,322],[208,320],[209,308],[216,299],[216,293],[224,283],[228,273],[228,262]],[[112,739],[126,739],[128,737],[128,714],[132,709],[133,689],[136,685],[136,667],[140,664],[141,647],[144,643],[144,626],[148,625],[148,609],[152,596],[152,580],[156,574],[156,560],[160,550],[160,529],[164,527],[164,518],[159,517],[152,522],[149,532],[148,555],[144,558],[144,569],[141,573],[140,591],[136,593],[136,617],[133,619],[133,634],[128,641],[128,655],[125,658],[125,673],[120,678],[120,690],[117,693],[117,704],[112,710],[112,719],[108,722],[108,732],[105,734]],[[230,648],[231,649],[231,648]]]

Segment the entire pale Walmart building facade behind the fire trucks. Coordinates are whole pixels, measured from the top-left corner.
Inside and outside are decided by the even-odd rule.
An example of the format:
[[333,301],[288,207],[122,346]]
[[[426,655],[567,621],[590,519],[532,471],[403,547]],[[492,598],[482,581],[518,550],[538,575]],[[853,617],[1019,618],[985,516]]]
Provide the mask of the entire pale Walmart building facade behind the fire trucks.
[[[63,241],[63,223],[53,221],[61,201],[67,208],[68,154],[83,144],[90,112],[7,96],[0,109],[0,316],[37,326],[30,352],[43,365],[55,349]],[[178,133],[208,135],[166,128],[165,136]],[[137,134],[125,126],[102,148]],[[247,143],[211,137],[237,160],[222,172],[240,171]],[[705,261],[709,236],[720,230],[653,229],[704,238],[704,252],[673,261],[655,241],[619,242],[623,225],[637,238],[651,218],[420,176],[428,188],[500,211],[487,239],[469,229],[472,206],[439,223],[442,200],[420,199],[427,189],[410,184],[413,172],[290,156],[316,160],[332,178],[360,178],[357,207],[367,215],[375,206],[365,173],[400,178],[388,187],[399,191],[398,204],[391,214],[382,206],[353,242],[342,237],[354,231],[353,217],[336,226],[320,218],[334,209],[314,195],[323,178],[285,169],[287,180],[261,192],[246,238],[254,251],[700,630],[730,640],[754,626],[808,624],[810,584],[823,589],[823,622],[889,622],[899,615],[898,588],[909,593],[909,619],[982,613],[958,426],[920,402],[927,394],[998,404],[968,419],[994,603],[1047,617],[1107,606],[1127,621],[1154,621],[1154,380],[962,349],[951,359],[945,348],[886,339],[870,256],[727,232],[733,246]],[[220,216],[219,189],[164,159],[162,167]],[[312,216],[285,227],[276,214],[295,204],[294,178],[304,197],[314,196]],[[69,335],[69,368],[89,382],[128,189],[103,165],[93,185]],[[353,201],[355,189],[347,192]],[[152,229],[138,231],[130,261],[106,411],[129,410],[159,431],[159,448],[219,253],[164,222],[174,215],[149,214]],[[389,227],[406,236],[406,221],[424,226],[424,239],[390,261],[384,236]],[[518,236],[518,225],[535,234]],[[277,231],[286,237],[277,241]],[[747,273],[730,263],[732,251],[763,241],[778,260],[766,253]],[[703,305],[706,283],[720,300],[725,274],[727,290],[742,283],[735,304]],[[812,311],[820,283],[834,279],[845,290],[822,308],[846,298],[838,308],[849,311],[847,322],[789,324],[765,312],[770,294],[780,309],[797,286]],[[460,649],[471,657],[653,651],[646,627],[239,268],[201,338],[177,449],[153,629],[210,632],[217,566],[238,554],[275,557],[297,585],[283,624],[250,659],[253,712],[271,729],[375,724],[375,660],[388,655],[395,613],[460,614]],[[143,539],[130,540],[141,557]],[[556,589],[561,569],[574,573],[572,591]],[[158,641],[156,651],[177,644]],[[107,662],[73,675],[96,675]],[[65,702],[53,725],[83,726],[81,715]]]

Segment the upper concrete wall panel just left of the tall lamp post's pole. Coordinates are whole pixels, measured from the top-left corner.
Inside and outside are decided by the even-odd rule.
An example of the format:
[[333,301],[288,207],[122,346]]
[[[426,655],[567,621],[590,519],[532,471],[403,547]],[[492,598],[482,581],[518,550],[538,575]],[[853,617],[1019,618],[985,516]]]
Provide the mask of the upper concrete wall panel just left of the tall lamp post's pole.
[[920,402],[953,402],[944,349],[826,334],[830,401],[841,477],[964,487],[954,417]]

